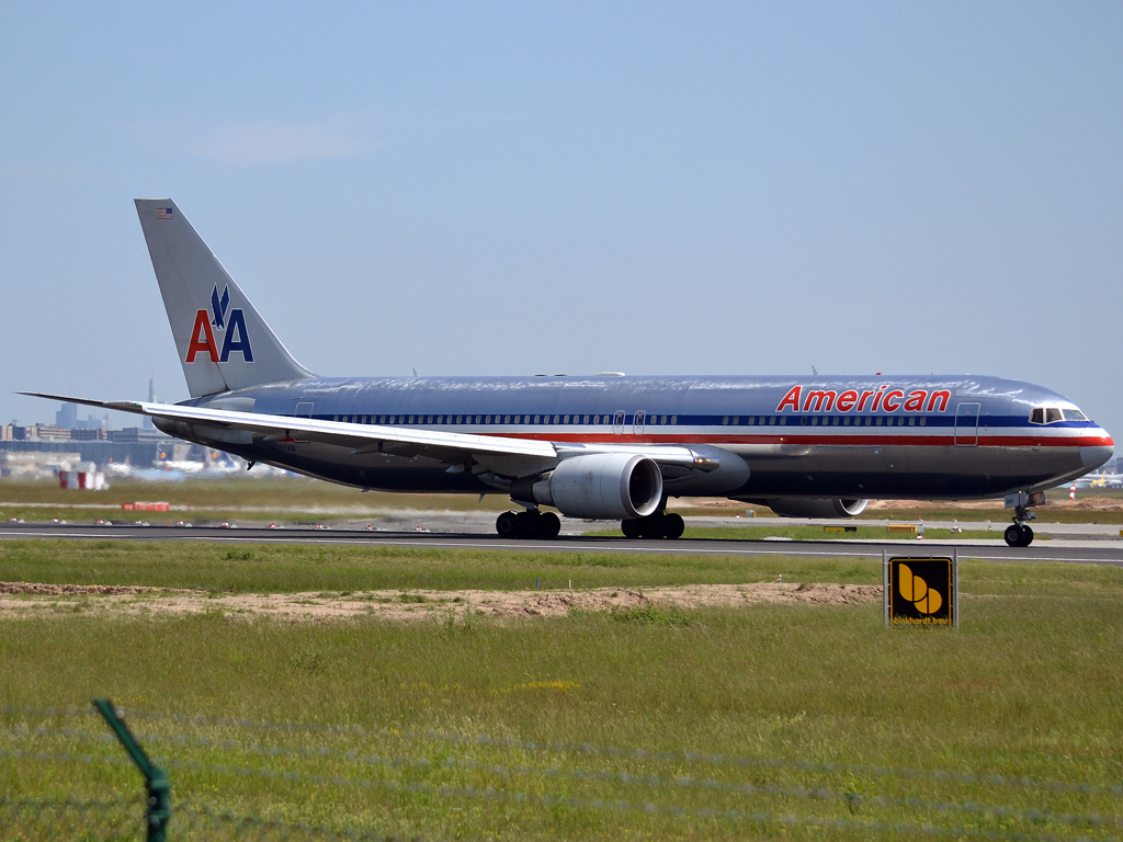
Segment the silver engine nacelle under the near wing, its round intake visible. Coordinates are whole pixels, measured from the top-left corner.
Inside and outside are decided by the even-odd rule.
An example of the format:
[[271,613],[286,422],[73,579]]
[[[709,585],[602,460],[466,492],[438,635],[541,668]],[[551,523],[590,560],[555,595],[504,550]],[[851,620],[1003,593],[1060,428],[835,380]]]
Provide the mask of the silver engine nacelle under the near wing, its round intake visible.
[[590,454],[559,463],[530,492],[536,503],[555,506],[570,518],[646,518],[663,501],[663,474],[646,456]]

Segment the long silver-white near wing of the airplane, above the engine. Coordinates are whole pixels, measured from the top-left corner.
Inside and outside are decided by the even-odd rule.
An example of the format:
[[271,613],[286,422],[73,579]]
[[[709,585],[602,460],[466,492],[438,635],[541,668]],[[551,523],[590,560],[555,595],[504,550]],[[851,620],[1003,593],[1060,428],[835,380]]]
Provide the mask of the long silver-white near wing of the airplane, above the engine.
[[521,439],[512,436],[478,436],[416,427],[320,421],[312,418],[270,415],[143,401],[92,401],[42,392],[20,392],[19,394],[203,425],[210,428],[207,432],[213,433],[213,438],[227,440],[230,443],[248,445],[253,442],[254,436],[261,436],[266,441],[300,438],[325,445],[349,447],[351,452],[356,455],[384,452],[395,456],[428,456],[451,465],[463,465],[466,461],[475,460],[489,466],[496,474],[505,475],[526,475],[547,470],[562,459],[605,450],[623,450],[648,456],[665,468],[674,466],[705,470],[711,467],[709,459],[688,448],[674,446],[572,445],[568,442],[554,445],[549,441]]

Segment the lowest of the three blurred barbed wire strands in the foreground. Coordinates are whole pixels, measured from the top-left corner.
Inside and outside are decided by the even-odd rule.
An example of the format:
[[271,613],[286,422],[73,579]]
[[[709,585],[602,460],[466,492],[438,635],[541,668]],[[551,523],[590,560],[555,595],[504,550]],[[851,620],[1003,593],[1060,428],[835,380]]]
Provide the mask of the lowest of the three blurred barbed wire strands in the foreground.
[[[77,754],[73,752],[30,752],[19,749],[0,749],[0,757],[34,758],[38,760],[57,760],[81,762],[125,762],[124,759],[108,756]],[[321,775],[318,772],[262,769],[256,767],[231,766],[228,763],[201,763],[190,760],[166,760],[168,769],[183,769],[203,772],[221,772],[239,777],[263,777],[290,782],[311,782],[336,787],[357,787],[364,789],[381,789],[392,793],[418,793],[439,797],[460,797],[474,799],[492,799],[513,802],[518,804],[535,804],[547,807],[569,807],[572,809],[613,811],[618,813],[642,813],[646,815],[668,815],[673,817],[705,818],[719,821],[751,822],[755,824],[784,824],[788,826],[805,826],[834,830],[851,830],[866,832],[921,833],[924,835],[973,836],[990,840],[1015,840],[1029,842],[1041,840],[1052,842],[1060,840],[1080,840],[1092,842],[1090,836],[1058,836],[1052,833],[1022,833],[1006,830],[983,830],[979,827],[948,827],[932,824],[909,824],[904,822],[888,823],[877,820],[833,818],[823,816],[803,816],[766,812],[748,812],[742,809],[714,809],[710,807],[683,807],[674,804],[636,803],[628,800],[606,800],[602,798],[578,798],[540,793],[520,793],[497,790],[494,787],[478,789],[466,786],[448,786],[427,784],[423,781],[374,780],[371,778],[353,778],[339,775]],[[1116,841],[1117,842],[1117,841]]]

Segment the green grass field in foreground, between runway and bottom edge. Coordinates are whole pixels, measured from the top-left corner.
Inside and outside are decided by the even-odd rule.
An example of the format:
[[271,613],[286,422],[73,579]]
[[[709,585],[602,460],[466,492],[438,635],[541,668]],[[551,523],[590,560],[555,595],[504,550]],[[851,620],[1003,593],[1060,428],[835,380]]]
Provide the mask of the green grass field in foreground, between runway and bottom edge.
[[[0,543],[0,580],[213,593],[778,574],[880,580],[860,559]],[[13,710],[107,695],[170,768],[171,839],[264,838],[261,820],[426,839],[1121,835],[1123,790],[1103,787],[1123,778],[1123,570],[964,560],[961,591],[955,632],[886,631],[879,605],[409,625],[115,617],[75,597],[0,614],[0,793],[135,799],[99,720]],[[6,839],[53,838],[4,809]],[[250,818],[219,827],[207,809]]]

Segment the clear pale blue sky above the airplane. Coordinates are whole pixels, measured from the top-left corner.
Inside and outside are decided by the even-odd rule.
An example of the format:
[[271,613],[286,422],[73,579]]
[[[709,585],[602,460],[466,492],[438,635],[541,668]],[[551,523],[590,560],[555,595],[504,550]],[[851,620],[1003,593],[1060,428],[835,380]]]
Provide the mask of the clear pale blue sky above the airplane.
[[170,196],[318,374],[989,374],[1123,436],[1120,44],[1117,2],[0,4],[0,419],[188,397]]

